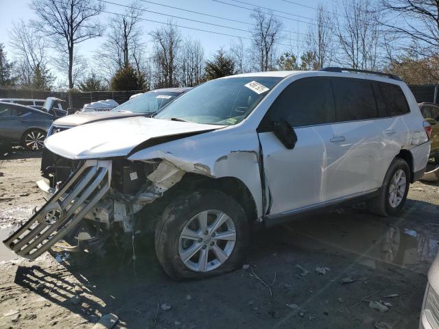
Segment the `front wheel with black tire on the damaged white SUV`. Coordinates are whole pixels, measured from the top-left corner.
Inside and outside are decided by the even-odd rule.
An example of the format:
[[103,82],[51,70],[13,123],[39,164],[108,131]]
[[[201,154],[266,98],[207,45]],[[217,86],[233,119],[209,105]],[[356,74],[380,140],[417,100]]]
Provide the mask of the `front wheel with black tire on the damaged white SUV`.
[[[204,219],[206,226],[201,224]],[[215,221],[224,223],[214,230]],[[203,227],[206,230],[203,231]],[[188,239],[183,236],[183,230]],[[204,234],[207,232],[209,234]],[[221,234],[222,238],[227,234],[228,240],[219,238]],[[235,199],[219,191],[200,190],[170,202],[156,225],[154,244],[165,272],[179,280],[233,271],[241,265],[249,239],[248,219]],[[197,249],[189,257],[191,251]]]

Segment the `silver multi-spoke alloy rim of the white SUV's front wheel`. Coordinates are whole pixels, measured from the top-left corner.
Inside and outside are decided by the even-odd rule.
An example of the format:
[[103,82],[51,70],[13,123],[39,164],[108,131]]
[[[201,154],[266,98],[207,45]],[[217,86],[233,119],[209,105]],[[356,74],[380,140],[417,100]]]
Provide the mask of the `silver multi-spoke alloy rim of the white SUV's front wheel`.
[[183,228],[178,254],[192,271],[207,272],[224,264],[236,241],[235,223],[220,210],[205,210]]

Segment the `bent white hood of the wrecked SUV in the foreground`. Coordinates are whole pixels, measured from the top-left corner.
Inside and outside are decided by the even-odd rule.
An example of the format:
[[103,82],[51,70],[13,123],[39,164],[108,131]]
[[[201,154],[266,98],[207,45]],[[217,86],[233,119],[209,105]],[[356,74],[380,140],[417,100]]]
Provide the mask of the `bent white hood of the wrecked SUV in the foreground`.
[[[134,147],[153,138],[208,132],[222,127],[224,125],[134,117],[99,121],[58,132],[45,140],[45,147],[70,159],[126,156]],[[158,143],[165,143],[165,138]]]

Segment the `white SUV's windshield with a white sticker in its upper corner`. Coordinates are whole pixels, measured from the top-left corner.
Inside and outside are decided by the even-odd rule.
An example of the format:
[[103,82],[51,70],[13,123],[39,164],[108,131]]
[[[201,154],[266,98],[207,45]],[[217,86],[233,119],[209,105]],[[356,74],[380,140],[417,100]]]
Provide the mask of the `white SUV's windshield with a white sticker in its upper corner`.
[[196,123],[235,125],[244,120],[281,77],[230,77],[206,82],[156,114]]

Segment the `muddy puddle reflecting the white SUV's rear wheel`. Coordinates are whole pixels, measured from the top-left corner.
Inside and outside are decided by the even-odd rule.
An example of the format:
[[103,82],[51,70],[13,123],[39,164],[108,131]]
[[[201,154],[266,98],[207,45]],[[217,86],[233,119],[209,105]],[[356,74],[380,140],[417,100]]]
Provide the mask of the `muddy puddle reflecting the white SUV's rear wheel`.
[[374,269],[390,263],[426,273],[438,252],[438,241],[426,232],[355,212],[298,219],[283,228],[284,243],[309,252],[348,253],[355,263]]

